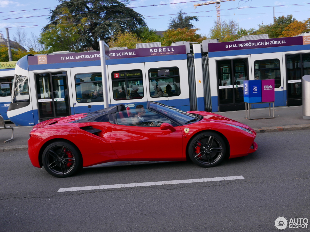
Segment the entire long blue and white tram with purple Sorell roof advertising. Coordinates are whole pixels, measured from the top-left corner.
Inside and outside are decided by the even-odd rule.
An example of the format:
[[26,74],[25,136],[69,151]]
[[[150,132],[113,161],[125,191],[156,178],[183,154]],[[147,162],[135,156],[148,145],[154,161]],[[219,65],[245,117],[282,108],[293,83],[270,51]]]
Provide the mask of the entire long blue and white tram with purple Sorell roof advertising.
[[[244,110],[243,81],[275,79],[275,106],[301,105],[301,77],[309,72],[310,36],[113,50],[107,101],[131,110],[147,101],[184,111]],[[28,126],[102,109],[102,81],[99,52],[25,56],[16,63],[7,115]]]

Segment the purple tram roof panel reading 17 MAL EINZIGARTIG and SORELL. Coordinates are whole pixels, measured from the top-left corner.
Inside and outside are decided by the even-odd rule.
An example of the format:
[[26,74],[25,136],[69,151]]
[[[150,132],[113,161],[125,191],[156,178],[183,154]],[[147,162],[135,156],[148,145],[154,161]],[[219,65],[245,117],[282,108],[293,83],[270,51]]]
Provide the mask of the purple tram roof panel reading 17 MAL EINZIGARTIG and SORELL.
[[[186,54],[185,45],[110,51],[110,59]],[[63,53],[29,56],[28,65],[100,60],[100,52]]]

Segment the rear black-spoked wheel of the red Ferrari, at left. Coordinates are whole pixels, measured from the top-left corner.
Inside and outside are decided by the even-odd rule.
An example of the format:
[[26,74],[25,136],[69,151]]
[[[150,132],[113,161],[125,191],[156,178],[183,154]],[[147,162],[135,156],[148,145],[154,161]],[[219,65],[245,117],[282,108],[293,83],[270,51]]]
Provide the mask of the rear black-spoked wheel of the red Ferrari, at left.
[[80,151],[65,141],[49,144],[43,151],[42,163],[45,170],[55,177],[69,177],[83,165]]

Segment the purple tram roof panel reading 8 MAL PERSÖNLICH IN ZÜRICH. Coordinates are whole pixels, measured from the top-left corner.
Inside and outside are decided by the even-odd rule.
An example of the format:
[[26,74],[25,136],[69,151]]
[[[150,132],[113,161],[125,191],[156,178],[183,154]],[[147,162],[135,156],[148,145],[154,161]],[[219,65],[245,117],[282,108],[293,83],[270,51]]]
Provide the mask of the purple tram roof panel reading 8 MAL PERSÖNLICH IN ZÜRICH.
[[270,48],[310,44],[310,36],[284,37],[261,40],[232,41],[208,44],[209,52],[232,51],[252,48]]

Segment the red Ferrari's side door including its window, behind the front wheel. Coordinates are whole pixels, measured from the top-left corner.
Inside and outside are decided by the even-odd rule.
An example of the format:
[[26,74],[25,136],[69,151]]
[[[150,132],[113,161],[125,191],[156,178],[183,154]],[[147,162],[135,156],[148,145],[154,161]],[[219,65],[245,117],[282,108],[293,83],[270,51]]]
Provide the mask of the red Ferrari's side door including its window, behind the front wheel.
[[111,133],[111,145],[123,160],[180,160],[183,136],[179,126],[175,131],[162,131],[163,122],[171,121],[156,112],[145,110],[141,121],[135,112],[116,113],[117,125]]

